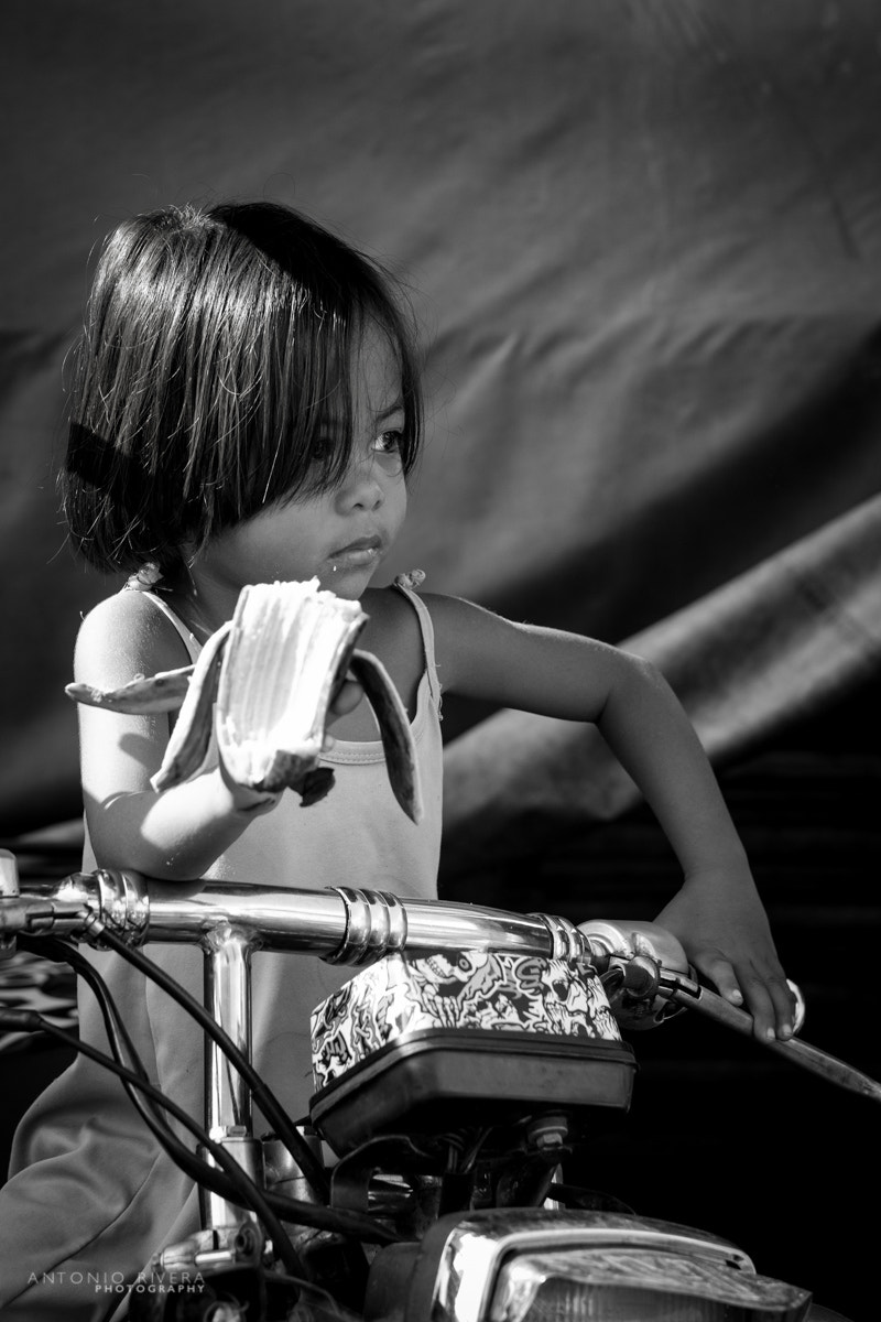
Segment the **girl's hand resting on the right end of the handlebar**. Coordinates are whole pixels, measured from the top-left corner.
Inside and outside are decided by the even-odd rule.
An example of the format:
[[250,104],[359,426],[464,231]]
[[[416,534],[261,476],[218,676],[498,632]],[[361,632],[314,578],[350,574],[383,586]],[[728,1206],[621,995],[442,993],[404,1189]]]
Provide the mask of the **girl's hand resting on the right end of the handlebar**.
[[692,874],[656,921],[720,995],[749,1010],[756,1038],[791,1038],[795,998],[748,869]]

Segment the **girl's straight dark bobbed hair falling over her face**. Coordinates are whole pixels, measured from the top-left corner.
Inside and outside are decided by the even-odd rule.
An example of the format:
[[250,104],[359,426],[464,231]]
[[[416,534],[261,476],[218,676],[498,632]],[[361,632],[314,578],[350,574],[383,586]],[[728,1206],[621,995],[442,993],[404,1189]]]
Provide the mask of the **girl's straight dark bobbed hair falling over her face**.
[[[168,208],[106,241],[74,357],[61,477],[73,545],[170,568],[264,505],[330,490],[353,446],[366,329],[400,368],[404,472],[421,439],[412,315],[378,263],[287,206]],[[334,438],[316,449],[329,412]]]

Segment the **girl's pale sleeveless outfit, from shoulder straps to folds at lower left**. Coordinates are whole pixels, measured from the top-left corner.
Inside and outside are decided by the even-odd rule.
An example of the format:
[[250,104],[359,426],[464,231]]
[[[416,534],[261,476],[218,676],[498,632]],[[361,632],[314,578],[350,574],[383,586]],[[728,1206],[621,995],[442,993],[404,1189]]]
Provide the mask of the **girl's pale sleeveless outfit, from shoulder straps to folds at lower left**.
[[[285,795],[218,859],[210,876],[316,890],[350,884],[435,898],[441,833],[440,686],[431,616],[403,584],[399,591],[417,613],[425,652],[412,722],[423,821],[415,826],[398,805],[379,742],[338,742],[325,759],[337,775],[330,795],[309,808],[301,808],[297,796]],[[153,599],[173,619],[195,660],[198,642],[161,598]],[[83,867],[88,871],[94,866],[86,842]],[[120,1006],[151,1077],[201,1121],[201,1032],[155,984],[118,956],[86,953]],[[145,953],[201,997],[198,949],[153,945]],[[306,1114],[313,1092],[310,1011],[349,976],[309,956],[254,956],[254,1063],[293,1120]],[[108,1050],[88,989],[79,997],[79,1026],[83,1039]],[[255,1116],[258,1137],[264,1130]],[[22,1118],[11,1177],[0,1190],[4,1317],[91,1317],[88,1307],[81,1311],[87,1301],[77,1278],[106,1272],[112,1280],[120,1274],[132,1280],[155,1251],[177,1243],[198,1224],[193,1182],[159,1150],[119,1081],[82,1055]],[[52,1284],[34,1285],[44,1272],[54,1273]],[[18,1302],[11,1305],[12,1300]]]

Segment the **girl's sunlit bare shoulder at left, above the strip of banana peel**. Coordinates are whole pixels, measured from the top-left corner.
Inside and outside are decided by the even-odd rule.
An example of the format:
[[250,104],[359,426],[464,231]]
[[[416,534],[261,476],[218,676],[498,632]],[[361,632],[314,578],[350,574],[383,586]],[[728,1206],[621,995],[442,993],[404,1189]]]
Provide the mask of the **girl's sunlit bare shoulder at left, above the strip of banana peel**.
[[144,592],[115,592],[85,616],[77,635],[74,678],[98,687],[188,665],[174,625]]

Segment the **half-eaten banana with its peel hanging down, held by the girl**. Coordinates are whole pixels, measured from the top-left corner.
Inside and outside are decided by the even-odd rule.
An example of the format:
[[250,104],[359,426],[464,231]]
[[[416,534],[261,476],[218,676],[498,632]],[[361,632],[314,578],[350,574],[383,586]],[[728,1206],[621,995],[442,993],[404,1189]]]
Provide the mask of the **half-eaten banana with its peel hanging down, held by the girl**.
[[232,620],[207,640],[195,665],[136,677],[119,689],[69,683],[74,702],[129,714],[176,711],[162,764],[151,784],[169,789],[197,775],[217,736],[229,776],[251,789],[322,798],[333,771],[321,767],[329,707],[343,680],[361,683],[386,754],[388,780],[407,816],[423,816],[416,751],[388,672],[355,646],[367,616],[358,602],[318,580],[242,588]]

